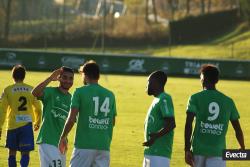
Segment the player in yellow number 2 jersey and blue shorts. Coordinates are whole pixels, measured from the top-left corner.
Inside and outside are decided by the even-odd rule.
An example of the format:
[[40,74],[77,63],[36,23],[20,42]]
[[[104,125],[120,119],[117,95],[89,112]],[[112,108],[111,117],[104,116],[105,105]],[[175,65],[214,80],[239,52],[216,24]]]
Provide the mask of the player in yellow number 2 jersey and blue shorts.
[[2,121],[0,129],[7,120],[6,147],[9,149],[9,167],[16,167],[16,152],[21,152],[21,167],[29,164],[29,152],[34,150],[34,130],[40,126],[41,105],[31,94],[32,87],[25,84],[26,70],[22,65],[16,65],[12,69],[14,84],[6,87],[2,96]]

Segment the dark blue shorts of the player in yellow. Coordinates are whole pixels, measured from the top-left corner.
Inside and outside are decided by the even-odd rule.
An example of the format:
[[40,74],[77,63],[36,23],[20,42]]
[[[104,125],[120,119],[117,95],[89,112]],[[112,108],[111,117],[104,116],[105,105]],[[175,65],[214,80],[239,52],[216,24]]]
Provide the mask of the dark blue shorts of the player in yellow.
[[6,148],[21,152],[34,150],[32,123],[7,131]]

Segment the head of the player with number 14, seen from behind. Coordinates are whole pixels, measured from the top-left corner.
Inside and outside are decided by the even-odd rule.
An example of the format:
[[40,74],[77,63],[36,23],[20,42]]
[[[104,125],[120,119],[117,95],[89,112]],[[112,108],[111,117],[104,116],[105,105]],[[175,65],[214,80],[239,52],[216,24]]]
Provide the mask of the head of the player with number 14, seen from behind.
[[98,82],[100,77],[99,66],[93,60],[84,63],[84,65],[80,67],[79,72],[83,75],[83,83],[85,85],[88,83]]

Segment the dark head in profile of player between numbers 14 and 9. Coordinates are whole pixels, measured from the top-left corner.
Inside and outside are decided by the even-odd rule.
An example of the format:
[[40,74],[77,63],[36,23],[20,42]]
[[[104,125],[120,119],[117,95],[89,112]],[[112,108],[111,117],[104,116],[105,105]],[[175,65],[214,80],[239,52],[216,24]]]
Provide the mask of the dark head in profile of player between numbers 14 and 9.
[[167,74],[163,71],[155,71],[148,77],[147,93],[148,95],[157,95],[164,91],[167,82]]

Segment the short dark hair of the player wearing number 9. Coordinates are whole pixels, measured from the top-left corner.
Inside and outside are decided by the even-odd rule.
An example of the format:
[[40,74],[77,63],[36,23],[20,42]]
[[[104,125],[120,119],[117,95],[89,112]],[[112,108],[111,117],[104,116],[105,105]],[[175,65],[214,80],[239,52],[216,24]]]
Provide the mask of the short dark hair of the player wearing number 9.
[[200,73],[203,74],[204,80],[209,83],[216,84],[219,81],[219,69],[212,64],[203,64],[200,69]]

